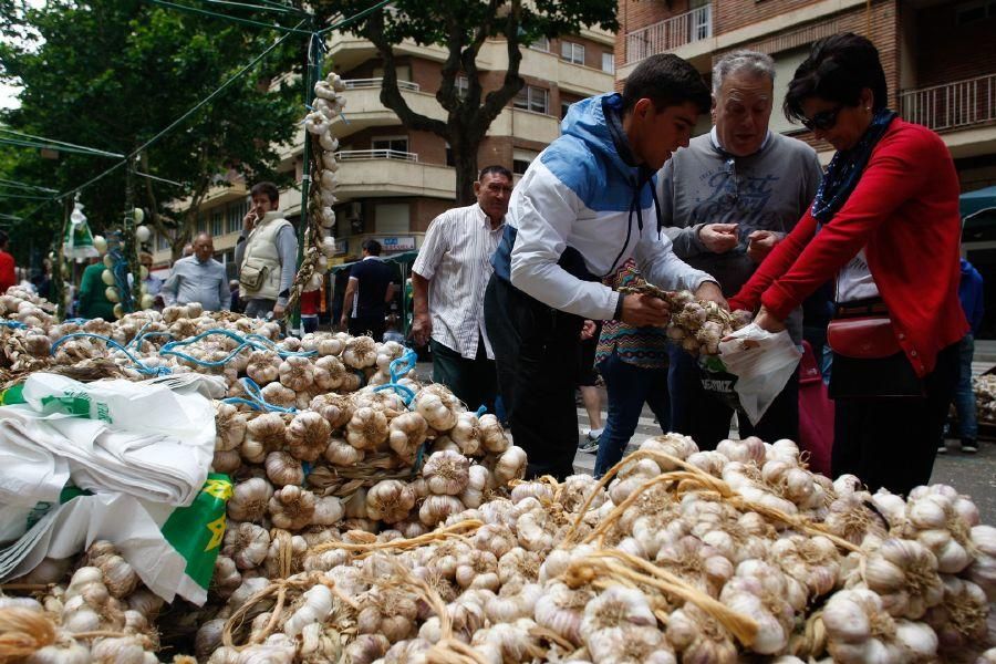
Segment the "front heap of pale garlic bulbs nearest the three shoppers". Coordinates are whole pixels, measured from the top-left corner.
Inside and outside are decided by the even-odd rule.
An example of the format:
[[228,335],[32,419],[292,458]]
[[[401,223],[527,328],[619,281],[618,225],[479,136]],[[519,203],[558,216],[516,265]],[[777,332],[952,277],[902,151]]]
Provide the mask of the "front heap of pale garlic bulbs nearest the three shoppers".
[[[993,661],[996,529],[806,469],[788,440],[652,438],[611,480],[513,483],[424,535],[344,531],[245,580],[211,663]],[[993,568],[996,569],[996,568]],[[273,598],[286,593],[282,606]],[[255,598],[255,599],[252,599]]]

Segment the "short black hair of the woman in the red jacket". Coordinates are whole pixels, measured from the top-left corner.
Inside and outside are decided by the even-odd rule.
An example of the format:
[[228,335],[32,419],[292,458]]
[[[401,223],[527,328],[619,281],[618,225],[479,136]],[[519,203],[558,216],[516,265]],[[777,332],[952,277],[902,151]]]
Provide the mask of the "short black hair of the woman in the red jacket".
[[812,44],[809,58],[799,65],[788,85],[782,110],[789,122],[793,122],[805,120],[802,102],[811,97],[857,106],[865,87],[872,91],[875,111],[888,105],[889,92],[879,50],[860,34],[834,34]]

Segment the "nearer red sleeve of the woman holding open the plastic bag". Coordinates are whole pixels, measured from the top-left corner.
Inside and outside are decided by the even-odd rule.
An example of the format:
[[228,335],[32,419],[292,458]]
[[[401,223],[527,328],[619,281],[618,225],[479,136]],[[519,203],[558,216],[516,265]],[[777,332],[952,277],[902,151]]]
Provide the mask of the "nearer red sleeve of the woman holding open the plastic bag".
[[943,143],[907,127],[901,126],[883,137],[840,211],[791,268],[761,294],[761,304],[775,318],[785,320],[802,300],[834,277],[896,208],[916,196],[926,184],[925,176],[941,167],[938,145],[947,152]]

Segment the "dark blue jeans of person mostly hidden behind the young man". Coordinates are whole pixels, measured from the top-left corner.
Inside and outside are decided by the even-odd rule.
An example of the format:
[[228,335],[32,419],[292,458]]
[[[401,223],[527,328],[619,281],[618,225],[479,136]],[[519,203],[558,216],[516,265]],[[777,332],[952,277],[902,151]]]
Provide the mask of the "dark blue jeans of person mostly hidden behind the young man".
[[623,362],[613,352],[599,363],[599,373],[602,374],[609,393],[609,417],[605,419],[605,429],[599,437],[595,478],[622,459],[640,423],[644,403],[657,416],[661,429],[671,429],[666,369],[636,366]]

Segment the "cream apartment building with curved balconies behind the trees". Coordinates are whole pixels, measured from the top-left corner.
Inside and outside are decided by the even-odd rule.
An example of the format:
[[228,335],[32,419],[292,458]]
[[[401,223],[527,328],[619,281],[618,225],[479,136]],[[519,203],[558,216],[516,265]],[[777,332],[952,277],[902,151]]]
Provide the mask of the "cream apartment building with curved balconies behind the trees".
[[[583,30],[562,39],[543,39],[523,49],[519,66],[526,86],[495,120],[478,151],[478,164],[500,164],[517,176],[560,135],[567,107],[584,97],[611,91],[615,81],[615,35]],[[445,120],[436,102],[446,51],[402,43],[395,46],[398,85],[408,105]],[[339,137],[335,237],[339,262],[355,258],[366,238],[385,252],[403,252],[422,243],[429,221],[455,205],[456,173],[446,142],[427,132],[409,131],[380,102],[383,65],[374,45],[351,34],[329,40],[328,61],[346,83],[346,105],[333,131]],[[505,42],[489,40],[477,59],[485,93],[501,85],[508,66]],[[458,85],[466,85],[466,79]],[[300,183],[303,129],[281,153],[282,170],[294,170]],[[248,210],[246,185],[229,174],[234,186],[219,187],[205,201],[198,230],[215,236],[215,249],[232,260],[235,242]],[[300,191],[281,194],[281,208],[293,219],[301,212]],[[156,264],[168,266],[164,239],[154,240]]]

